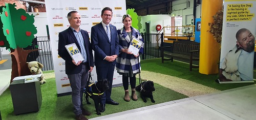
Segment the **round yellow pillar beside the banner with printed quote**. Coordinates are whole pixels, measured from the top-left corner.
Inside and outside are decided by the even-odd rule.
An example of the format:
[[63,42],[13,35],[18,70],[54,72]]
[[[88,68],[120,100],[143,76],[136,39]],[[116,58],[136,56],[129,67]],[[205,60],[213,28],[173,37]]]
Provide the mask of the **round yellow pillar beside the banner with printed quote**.
[[219,72],[218,63],[220,62],[220,44],[208,32],[214,20],[212,16],[221,10],[223,0],[202,0],[201,18],[201,39],[200,39],[200,61],[199,72],[202,74],[216,74]]

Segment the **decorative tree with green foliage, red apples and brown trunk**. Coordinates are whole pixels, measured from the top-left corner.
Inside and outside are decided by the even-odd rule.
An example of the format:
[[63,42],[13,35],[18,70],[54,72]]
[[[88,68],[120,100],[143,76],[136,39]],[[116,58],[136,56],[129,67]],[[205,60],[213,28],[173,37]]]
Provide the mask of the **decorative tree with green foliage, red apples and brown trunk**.
[[12,76],[24,76],[31,74],[26,64],[28,53],[34,50],[24,50],[23,48],[32,45],[32,41],[37,33],[34,23],[34,15],[29,15],[24,9],[16,9],[14,4],[5,4],[1,7],[0,47],[10,48],[12,54]]

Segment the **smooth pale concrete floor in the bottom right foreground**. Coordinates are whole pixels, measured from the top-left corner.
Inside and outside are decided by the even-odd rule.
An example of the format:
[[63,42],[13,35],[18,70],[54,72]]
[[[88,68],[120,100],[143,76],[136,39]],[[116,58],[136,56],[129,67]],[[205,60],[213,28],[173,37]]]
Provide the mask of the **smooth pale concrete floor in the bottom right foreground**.
[[190,97],[146,106],[96,119],[255,119],[256,86],[228,89],[214,94]]

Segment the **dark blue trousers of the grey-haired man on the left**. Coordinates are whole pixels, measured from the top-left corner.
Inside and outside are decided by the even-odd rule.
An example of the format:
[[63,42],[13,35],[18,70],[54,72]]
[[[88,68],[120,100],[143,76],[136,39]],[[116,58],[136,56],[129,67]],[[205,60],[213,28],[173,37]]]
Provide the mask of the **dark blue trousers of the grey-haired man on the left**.
[[83,88],[86,87],[89,75],[89,65],[82,65],[82,70],[78,74],[69,74],[69,82],[72,89],[72,103],[75,115],[82,113]]

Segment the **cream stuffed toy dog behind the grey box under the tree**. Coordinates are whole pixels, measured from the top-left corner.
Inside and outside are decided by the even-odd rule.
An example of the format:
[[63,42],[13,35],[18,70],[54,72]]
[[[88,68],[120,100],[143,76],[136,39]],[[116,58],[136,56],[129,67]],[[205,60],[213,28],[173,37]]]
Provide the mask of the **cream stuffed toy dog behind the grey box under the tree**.
[[[27,62],[27,64],[32,75],[42,74],[41,68],[44,67],[42,64],[38,63],[37,61]],[[40,84],[46,83],[44,74],[41,75],[39,81],[40,81]]]

